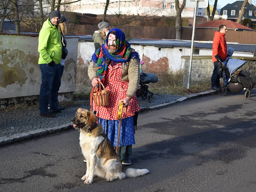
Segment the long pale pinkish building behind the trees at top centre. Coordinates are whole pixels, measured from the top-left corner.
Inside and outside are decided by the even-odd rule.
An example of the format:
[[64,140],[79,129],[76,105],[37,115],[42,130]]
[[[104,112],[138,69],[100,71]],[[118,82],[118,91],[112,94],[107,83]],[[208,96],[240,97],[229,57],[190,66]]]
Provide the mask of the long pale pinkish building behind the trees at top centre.
[[[105,5],[106,0],[98,0],[97,2],[82,0],[70,4],[65,11],[102,15],[104,14]],[[107,14],[112,15],[120,10],[121,14],[127,15],[176,16],[175,6],[175,0],[110,0]],[[194,8],[185,7],[181,13],[181,17],[193,16]]]

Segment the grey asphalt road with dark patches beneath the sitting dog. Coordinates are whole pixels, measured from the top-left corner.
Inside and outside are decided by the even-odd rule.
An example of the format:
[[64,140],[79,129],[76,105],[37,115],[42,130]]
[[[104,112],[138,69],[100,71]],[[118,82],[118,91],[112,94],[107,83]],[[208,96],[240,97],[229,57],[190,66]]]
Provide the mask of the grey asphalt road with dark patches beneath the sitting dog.
[[255,101],[252,90],[140,113],[130,167],[150,173],[111,183],[81,180],[77,130],[0,147],[0,191],[256,191]]

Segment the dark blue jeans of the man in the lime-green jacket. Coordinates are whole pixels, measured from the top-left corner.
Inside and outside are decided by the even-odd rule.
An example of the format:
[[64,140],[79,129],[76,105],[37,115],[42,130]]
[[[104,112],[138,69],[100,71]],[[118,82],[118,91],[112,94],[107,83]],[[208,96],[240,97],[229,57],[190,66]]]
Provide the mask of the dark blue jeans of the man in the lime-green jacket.
[[49,113],[48,99],[51,99],[51,111],[58,109],[58,91],[60,87],[60,64],[49,66],[48,64],[39,64],[42,76],[42,84],[39,94],[40,113]]

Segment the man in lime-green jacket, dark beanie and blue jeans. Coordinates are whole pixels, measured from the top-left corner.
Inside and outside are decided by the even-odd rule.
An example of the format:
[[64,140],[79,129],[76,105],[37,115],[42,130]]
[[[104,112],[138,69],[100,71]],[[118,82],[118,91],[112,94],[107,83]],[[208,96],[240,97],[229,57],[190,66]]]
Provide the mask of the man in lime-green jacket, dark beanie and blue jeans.
[[[39,111],[44,117],[55,117],[58,110],[58,91],[60,85],[60,59],[62,45],[58,28],[60,12],[52,11],[44,22],[38,38],[39,68],[42,84],[39,94]],[[50,110],[48,101],[50,100]]]

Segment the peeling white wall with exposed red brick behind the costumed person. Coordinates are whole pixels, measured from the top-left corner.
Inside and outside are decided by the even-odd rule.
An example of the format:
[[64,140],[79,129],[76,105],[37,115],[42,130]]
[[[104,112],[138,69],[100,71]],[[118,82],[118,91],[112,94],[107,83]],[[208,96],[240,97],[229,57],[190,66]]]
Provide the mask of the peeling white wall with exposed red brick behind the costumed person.
[[[152,45],[131,44],[140,55],[140,59],[144,61],[142,69],[147,73],[162,73],[168,70],[183,70],[185,60],[180,59],[183,55],[190,55],[188,47],[157,47]],[[90,41],[79,41],[78,59],[82,63],[88,63],[94,53],[94,44]],[[212,56],[211,49],[200,49],[200,55]],[[248,52],[234,52],[234,56],[253,56]]]

